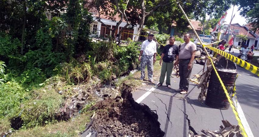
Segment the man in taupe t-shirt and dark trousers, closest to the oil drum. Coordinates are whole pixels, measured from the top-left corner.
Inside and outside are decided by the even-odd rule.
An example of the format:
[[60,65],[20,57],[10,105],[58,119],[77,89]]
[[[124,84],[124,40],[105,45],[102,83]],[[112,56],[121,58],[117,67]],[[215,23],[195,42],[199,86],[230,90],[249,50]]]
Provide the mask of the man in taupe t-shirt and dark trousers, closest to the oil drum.
[[179,89],[176,90],[181,94],[186,94],[189,89],[190,75],[193,68],[193,60],[197,50],[196,45],[190,41],[190,34],[185,34],[183,40],[185,43],[181,45],[180,53],[176,65],[179,64],[180,83]]

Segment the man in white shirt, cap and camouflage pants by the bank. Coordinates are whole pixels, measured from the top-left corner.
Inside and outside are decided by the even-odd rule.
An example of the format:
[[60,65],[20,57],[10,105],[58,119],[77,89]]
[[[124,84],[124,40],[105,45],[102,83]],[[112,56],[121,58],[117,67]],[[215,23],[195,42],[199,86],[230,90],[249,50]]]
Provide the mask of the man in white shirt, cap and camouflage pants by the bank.
[[140,61],[140,80],[145,79],[145,67],[147,65],[148,81],[153,83],[153,63],[156,61],[156,42],[152,40],[153,33],[148,33],[147,40],[145,40],[140,48],[139,61]]

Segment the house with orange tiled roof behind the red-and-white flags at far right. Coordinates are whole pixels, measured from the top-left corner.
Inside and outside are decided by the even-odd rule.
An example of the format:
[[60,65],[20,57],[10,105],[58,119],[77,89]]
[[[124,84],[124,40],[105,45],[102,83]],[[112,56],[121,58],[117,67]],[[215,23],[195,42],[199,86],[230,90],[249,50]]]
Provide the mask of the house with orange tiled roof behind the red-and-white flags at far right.
[[[228,26],[228,25],[225,25],[225,26]],[[230,30],[229,30],[230,33],[229,34],[233,35],[235,46],[241,46],[241,45],[247,44],[248,47],[250,48],[254,44],[254,48],[258,49],[258,47],[259,47],[259,45],[258,45],[258,40],[259,40],[258,33],[253,32],[250,29],[251,29],[251,27],[248,26],[248,25],[241,26],[239,23],[230,24]],[[247,40],[242,42],[241,41],[242,39],[237,37],[237,35],[246,35]],[[227,33],[223,37],[225,39],[227,39],[228,36],[229,35]]]

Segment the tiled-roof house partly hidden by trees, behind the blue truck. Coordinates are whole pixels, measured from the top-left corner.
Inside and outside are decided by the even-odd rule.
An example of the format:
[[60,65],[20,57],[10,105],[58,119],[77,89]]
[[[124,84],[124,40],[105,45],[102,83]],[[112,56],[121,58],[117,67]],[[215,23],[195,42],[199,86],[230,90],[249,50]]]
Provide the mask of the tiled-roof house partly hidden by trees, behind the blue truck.
[[[190,22],[192,23],[192,25],[193,25],[195,31],[197,32],[197,34],[200,35],[201,31],[203,29],[201,22],[199,20],[193,20],[193,19],[190,19]],[[192,30],[190,25],[188,26],[188,28],[190,30],[188,30],[186,33],[189,33],[193,39],[196,39],[197,37],[196,37],[195,33],[193,32],[193,30]],[[213,29],[210,29],[210,33],[212,32],[212,30]],[[170,35],[178,35],[179,37],[182,36],[182,34],[179,33],[179,31],[177,29],[177,25],[176,25],[175,22],[173,22],[173,24],[171,26]]]

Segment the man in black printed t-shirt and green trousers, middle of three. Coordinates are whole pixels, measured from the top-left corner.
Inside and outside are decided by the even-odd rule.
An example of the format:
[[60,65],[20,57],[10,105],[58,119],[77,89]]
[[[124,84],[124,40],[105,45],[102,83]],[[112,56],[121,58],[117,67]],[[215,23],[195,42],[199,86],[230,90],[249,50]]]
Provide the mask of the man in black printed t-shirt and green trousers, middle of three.
[[[160,59],[160,65],[162,65],[162,67],[161,67],[159,83],[157,86],[162,86],[165,80],[165,73],[166,73],[165,84],[168,88],[171,88],[170,75],[173,70],[174,60],[175,59],[177,60],[179,55],[179,47],[176,44],[174,44],[174,42],[175,42],[175,37],[170,36],[169,44],[166,45],[162,51],[162,55]],[[175,62],[175,65],[176,65],[176,62]]]

